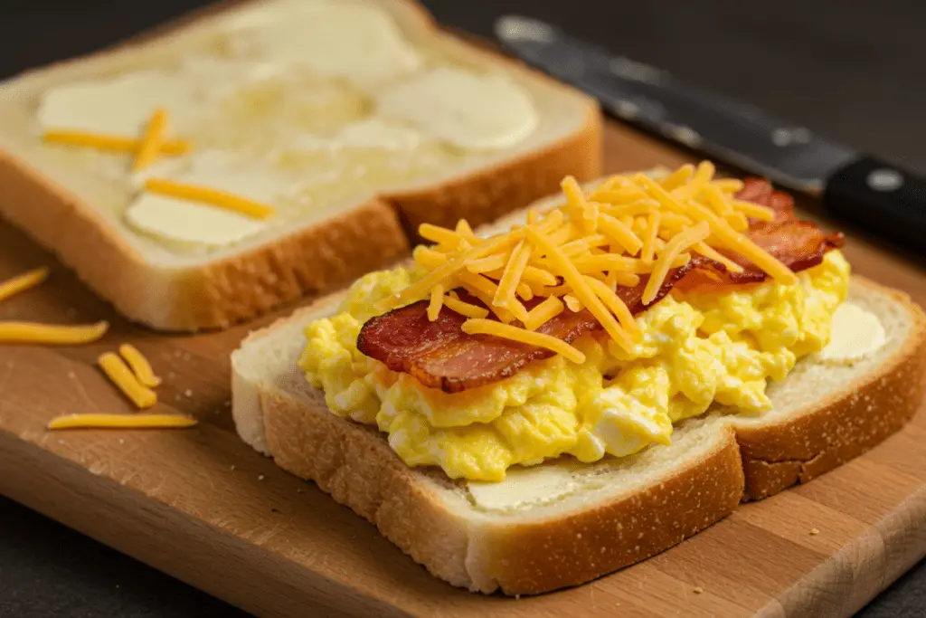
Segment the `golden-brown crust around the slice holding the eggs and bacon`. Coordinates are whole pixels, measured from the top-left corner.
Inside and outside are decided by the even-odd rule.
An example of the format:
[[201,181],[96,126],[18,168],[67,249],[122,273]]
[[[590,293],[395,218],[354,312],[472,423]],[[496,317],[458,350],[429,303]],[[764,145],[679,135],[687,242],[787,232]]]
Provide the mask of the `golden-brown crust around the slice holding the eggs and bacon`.
[[[907,422],[923,395],[926,317],[901,292],[860,277],[854,284],[889,296],[913,316],[913,334],[877,371],[782,423],[745,427],[721,418],[710,427],[720,434],[718,446],[702,460],[594,508],[540,521],[468,522],[430,490],[441,478],[449,481],[409,468],[375,428],[327,413],[320,400],[307,405],[269,388],[259,397],[267,450],[284,470],[314,480],[454,586],[519,595],[582,584],[669,549],[741,500],[768,497],[832,470]],[[245,344],[318,315],[336,298],[300,309]]]

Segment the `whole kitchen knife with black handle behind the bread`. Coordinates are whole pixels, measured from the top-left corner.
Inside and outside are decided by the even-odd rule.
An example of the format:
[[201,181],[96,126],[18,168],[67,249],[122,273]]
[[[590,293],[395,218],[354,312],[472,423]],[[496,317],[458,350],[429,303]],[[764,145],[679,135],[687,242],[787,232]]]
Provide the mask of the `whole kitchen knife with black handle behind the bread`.
[[926,181],[915,174],[538,19],[499,18],[495,34],[511,54],[593,95],[620,119],[820,196],[827,214],[926,253]]

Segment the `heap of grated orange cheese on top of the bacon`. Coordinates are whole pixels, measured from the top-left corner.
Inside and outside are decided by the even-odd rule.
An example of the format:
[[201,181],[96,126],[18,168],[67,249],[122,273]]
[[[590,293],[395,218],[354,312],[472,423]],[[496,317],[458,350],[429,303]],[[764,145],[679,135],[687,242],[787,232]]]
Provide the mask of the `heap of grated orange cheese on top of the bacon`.
[[[449,230],[431,224],[420,235],[435,243],[419,246],[415,262],[429,271],[418,282],[377,304],[386,311],[428,298],[428,318],[446,305],[469,318],[463,331],[490,334],[544,347],[577,363],[577,348],[537,329],[563,311],[588,309],[620,347],[630,350],[640,331],[616,294],[648,274],[643,302],[656,298],[669,271],[698,254],[743,269],[721,255],[742,255],[784,284],[796,275],[750,241],[747,218],[770,221],[770,208],[735,199],[743,183],[715,178],[714,166],[683,165],[661,180],[644,173],[615,175],[591,191],[574,178],[561,184],[565,203],[527,213],[526,224],[487,238],[467,221]],[[488,308],[467,304],[453,292],[463,288]],[[544,300],[528,311],[523,301]],[[498,321],[488,320],[491,311]]]

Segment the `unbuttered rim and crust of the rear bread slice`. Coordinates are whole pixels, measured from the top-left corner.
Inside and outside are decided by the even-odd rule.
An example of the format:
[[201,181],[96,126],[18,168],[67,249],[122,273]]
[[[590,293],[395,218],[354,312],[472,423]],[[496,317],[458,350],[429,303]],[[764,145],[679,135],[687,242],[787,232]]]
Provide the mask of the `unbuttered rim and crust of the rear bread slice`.
[[[429,57],[516,82],[538,113],[536,128],[523,141],[469,153],[413,181],[333,199],[205,255],[181,255],[133,231],[119,213],[128,206],[125,186],[89,173],[81,165],[85,153],[62,153],[61,146],[42,143],[36,109],[49,88],[170,67],[214,44],[223,29],[258,23],[266,11],[320,1],[230,3],[142,41],[0,82],[0,216],[53,250],[132,320],[160,330],[195,331],[244,321],[382,267],[407,252],[407,231],[421,222],[492,221],[549,194],[566,174],[589,179],[599,172],[601,115],[593,99],[440,31],[414,0],[339,2],[387,11]],[[126,203],[100,208],[121,202]]]

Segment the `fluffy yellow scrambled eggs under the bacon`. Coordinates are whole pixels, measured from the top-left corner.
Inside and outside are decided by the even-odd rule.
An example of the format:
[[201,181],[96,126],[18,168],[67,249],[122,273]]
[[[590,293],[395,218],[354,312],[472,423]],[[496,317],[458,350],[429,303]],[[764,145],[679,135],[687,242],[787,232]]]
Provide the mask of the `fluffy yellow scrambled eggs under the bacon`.
[[782,380],[797,359],[829,341],[849,264],[831,251],[795,285],[675,290],[636,316],[643,338],[632,353],[586,334],[574,343],[586,355],[582,365],[559,356],[535,361],[507,380],[456,394],[423,387],[357,350],[372,305],[419,276],[397,269],[357,281],[335,316],[307,325],[299,366],[335,414],[375,423],[408,465],[501,481],[514,464],[562,454],[588,462],[669,444],[673,423],[715,402],[768,409],[768,380]]

